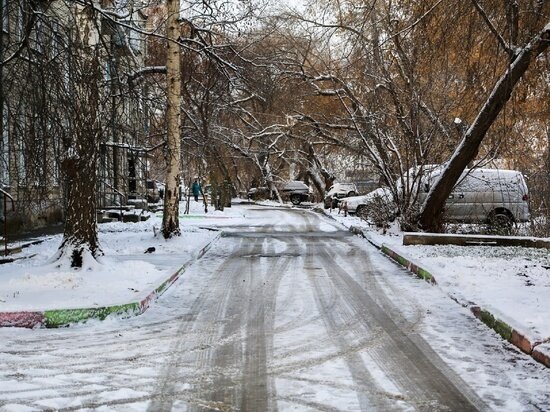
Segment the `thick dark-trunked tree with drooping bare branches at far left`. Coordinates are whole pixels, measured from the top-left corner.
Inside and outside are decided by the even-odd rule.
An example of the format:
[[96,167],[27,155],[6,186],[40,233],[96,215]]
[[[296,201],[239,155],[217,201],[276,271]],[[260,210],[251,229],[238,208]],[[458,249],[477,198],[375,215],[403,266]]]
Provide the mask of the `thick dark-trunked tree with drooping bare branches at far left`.
[[104,136],[101,45],[90,35],[96,21],[89,10],[62,2],[28,6],[9,10],[10,21],[20,16],[25,25],[22,32],[8,27],[2,48],[2,106],[9,114],[2,154],[9,156],[12,190],[29,212],[42,215],[64,193],[64,236],[55,257],[81,267],[101,254],[95,208]]

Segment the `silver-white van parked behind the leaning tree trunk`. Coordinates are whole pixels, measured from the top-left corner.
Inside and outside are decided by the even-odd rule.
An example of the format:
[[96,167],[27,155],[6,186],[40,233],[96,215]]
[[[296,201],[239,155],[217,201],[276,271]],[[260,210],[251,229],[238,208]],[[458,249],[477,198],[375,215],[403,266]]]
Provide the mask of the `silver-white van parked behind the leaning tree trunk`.
[[[442,170],[422,179],[418,196],[424,201]],[[447,220],[510,225],[529,220],[529,192],[521,172],[502,169],[466,169],[445,203]]]

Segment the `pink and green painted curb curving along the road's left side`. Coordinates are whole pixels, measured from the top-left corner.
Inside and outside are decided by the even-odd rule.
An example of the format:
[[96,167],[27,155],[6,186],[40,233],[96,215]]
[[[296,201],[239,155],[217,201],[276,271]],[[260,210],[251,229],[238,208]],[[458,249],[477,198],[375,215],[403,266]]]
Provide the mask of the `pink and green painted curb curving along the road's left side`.
[[176,281],[195,261],[202,258],[210,249],[210,246],[218,240],[221,232],[212,240],[204,245],[197,253],[196,257],[189,259],[178,270],[176,270],[168,279],[157,286],[146,297],[139,301],[129,302],[122,305],[103,306],[99,308],[79,308],[79,309],[54,309],[45,311],[22,311],[22,312],[0,312],[0,327],[19,327],[19,328],[58,328],[69,326],[72,323],[83,322],[89,319],[104,320],[109,315],[117,315],[124,318],[141,315],[152,302]]

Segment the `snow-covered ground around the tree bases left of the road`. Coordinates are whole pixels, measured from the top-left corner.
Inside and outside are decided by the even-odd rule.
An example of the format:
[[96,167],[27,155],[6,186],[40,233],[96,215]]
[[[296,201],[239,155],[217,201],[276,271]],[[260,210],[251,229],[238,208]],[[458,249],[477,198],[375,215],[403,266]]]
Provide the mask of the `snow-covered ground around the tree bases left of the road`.
[[[231,210],[206,215],[202,205],[192,205],[191,215],[180,219],[181,236],[168,241],[158,233],[159,216],[99,225],[104,256],[81,270],[63,269],[52,261],[61,235],[24,249],[14,255],[23,259],[0,265],[0,312],[95,308],[145,298],[219,235],[208,230],[209,225],[219,218],[239,217]],[[154,252],[145,253],[149,248]]]

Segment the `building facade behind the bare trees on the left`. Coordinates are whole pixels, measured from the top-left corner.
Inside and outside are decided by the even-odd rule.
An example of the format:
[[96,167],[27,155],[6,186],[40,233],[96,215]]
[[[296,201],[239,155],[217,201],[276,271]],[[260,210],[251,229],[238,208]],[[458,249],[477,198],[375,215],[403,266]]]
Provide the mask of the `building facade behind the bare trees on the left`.
[[145,197],[147,91],[141,85],[130,90],[127,77],[144,65],[145,36],[135,29],[145,27],[146,15],[133,2],[91,8],[0,0],[0,6],[0,217],[9,231],[63,220],[61,162],[78,110],[72,71],[88,51],[97,53],[101,73],[94,80],[102,123],[97,205]]

